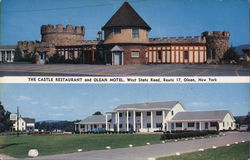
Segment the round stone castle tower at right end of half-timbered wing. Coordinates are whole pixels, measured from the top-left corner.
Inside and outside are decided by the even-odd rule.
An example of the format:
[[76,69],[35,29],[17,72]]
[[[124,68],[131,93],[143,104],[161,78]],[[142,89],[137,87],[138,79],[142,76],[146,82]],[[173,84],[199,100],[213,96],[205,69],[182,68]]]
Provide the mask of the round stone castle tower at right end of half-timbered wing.
[[202,36],[206,38],[207,63],[218,63],[222,60],[225,52],[228,50],[229,32],[203,32]]

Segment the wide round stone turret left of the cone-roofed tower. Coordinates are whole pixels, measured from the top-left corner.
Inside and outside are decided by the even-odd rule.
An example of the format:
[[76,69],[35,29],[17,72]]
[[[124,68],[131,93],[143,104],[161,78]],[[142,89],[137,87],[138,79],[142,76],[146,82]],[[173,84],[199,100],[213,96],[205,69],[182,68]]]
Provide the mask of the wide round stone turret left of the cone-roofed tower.
[[42,42],[51,43],[56,46],[78,44],[84,40],[85,28],[83,26],[74,27],[71,24],[63,27],[61,24],[53,26],[51,24],[41,26]]

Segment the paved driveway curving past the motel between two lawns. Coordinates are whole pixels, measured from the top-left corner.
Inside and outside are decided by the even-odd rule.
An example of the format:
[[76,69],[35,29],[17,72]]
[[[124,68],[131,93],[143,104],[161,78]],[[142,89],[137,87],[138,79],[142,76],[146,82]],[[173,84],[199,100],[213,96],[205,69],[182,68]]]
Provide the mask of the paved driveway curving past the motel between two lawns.
[[[149,157],[164,157],[174,155],[176,152],[194,152],[198,149],[211,148],[212,146],[225,146],[227,143],[249,141],[250,133],[227,133],[226,136],[197,139],[189,141],[171,142],[165,144],[155,144],[142,147],[120,148],[111,150],[99,150],[89,152],[79,152],[71,154],[61,154],[44,156],[37,159],[60,159],[60,160],[147,160]],[[30,158],[29,158],[30,159]]]

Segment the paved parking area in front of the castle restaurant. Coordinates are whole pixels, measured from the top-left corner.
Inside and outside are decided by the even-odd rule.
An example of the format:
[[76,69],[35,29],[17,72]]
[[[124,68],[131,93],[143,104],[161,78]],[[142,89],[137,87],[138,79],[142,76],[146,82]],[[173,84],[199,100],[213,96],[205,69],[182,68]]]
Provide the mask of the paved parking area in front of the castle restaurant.
[[249,76],[250,68],[240,65],[157,64],[1,64],[0,76]]

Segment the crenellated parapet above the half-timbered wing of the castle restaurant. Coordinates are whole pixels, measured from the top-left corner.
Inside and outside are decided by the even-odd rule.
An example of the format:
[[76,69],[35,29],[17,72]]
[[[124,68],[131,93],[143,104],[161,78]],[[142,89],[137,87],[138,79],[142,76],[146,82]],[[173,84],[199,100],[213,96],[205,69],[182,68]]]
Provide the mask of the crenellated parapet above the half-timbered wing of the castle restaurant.
[[206,43],[206,39],[202,36],[195,37],[163,37],[163,38],[150,38],[150,43],[181,43],[181,44],[190,44],[190,43]]

